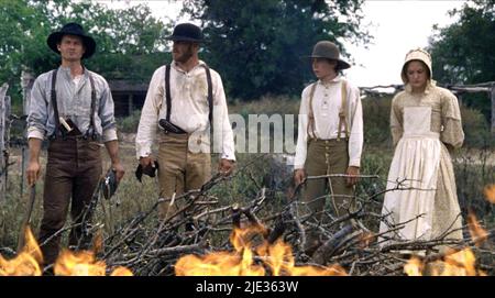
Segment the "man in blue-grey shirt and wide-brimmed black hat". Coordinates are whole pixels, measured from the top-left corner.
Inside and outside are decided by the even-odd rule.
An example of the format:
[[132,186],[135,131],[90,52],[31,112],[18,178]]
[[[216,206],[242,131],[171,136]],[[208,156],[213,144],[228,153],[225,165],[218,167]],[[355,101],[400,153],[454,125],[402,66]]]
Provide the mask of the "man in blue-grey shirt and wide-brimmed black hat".
[[34,186],[40,178],[40,151],[47,139],[48,162],[43,195],[43,220],[40,243],[46,265],[58,255],[61,235],[54,234],[70,216],[75,228],[69,245],[86,249],[90,242],[88,229],[92,194],[102,173],[100,141],[107,147],[117,180],[124,169],[118,156],[113,99],[103,77],[86,69],[81,59],[92,56],[95,40],[77,23],[68,23],[52,33],[46,43],[61,55],[57,69],[40,75],[31,93],[28,117],[30,162],[28,183]]

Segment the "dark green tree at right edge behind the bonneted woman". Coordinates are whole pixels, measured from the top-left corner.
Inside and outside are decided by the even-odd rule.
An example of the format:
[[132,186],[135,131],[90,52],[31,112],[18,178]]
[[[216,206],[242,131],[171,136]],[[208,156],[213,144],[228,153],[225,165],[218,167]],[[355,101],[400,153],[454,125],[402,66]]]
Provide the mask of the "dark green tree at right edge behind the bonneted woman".
[[[495,0],[473,0],[450,11],[459,21],[436,27],[429,51],[433,78],[442,84],[480,84],[495,78]],[[491,102],[485,95],[463,97],[469,106],[490,118]]]

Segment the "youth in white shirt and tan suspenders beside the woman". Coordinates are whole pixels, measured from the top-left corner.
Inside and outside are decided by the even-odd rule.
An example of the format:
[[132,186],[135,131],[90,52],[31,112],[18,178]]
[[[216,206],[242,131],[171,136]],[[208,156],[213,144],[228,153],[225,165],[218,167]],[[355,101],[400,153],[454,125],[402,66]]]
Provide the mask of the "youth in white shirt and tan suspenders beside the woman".
[[[309,58],[318,81],[302,90],[294,179],[299,185],[307,176],[327,176],[306,180],[304,194],[312,219],[324,221],[326,194],[338,217],[345,216],[353,206],[363,146],[363,117],[359,89],[339,74],[350,65],[340,58],[337,45],[318,42]],[[348,177],[331,177],[333,174]],[[312,253],[319,244],[318,233],[310,233],[307,252]]]

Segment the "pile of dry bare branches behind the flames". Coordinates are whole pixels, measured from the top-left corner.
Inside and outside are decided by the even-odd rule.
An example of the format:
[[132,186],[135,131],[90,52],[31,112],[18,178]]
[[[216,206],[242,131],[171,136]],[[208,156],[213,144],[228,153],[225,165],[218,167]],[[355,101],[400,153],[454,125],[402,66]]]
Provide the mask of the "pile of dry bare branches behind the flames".
[[[384,244],[385,235],[375,232],[376,223],[384,218],[367,208],[380,203],[376,198],[384,191],[359,198],[354,211],[343,217],[334,218],[330,211],[324,211],[323,220],[316,222],[316,214],[305,211],[306,206],[297,199],[300,187],[290,191],[282,210],[275,211],[267,200],[270,189],[263,187],[244,206],[221,206],[218,198],[209,195],[209,190],[226,180],[229,177],[216,176],[201,189],[174,198],[174,203],[180,208],[169,214],[167,220],[158,221],[155,209],[158,202],[169,203],[170,200],[158,200],[153,208],[130,219],[106,238],[99,258],[105,260],[110,267],[127,266],[135,275],[173,275],[175,263],[185,254],[233,251],[228,235],[234,228],[249,225],[263,227],[265,232],[258,236],[268,243],[282,239],[290,244],[297,264],[339,264],[350,275],[403,275],[404,266],[410,258],[404,252],[424,253],[424,261],[432,262],[444,257],[444,253],[439,251],[439,247],[444,246],[458,250],[470,247],[477,256],[477,268],[494,274],[495,230],[486,231],[486,241],[481,245],[480,239],[469,236],[468,227],[463,228],[468,235],[464,241],[449,240],[449,233],[446,233],[431,241],[394,241]],[[375,222],[375,228],[366,227],[366,222]],[[404,224],[389,224],[388,232],[398,231]],[[306,235],[315,230],[321,235],[321,245],[307,255],[304,251]]]

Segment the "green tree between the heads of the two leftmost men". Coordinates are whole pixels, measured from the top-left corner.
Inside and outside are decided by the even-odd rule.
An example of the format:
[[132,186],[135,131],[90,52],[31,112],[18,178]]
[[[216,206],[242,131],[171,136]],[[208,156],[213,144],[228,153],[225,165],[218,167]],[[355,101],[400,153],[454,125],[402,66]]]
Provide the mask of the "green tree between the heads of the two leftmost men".
[[54,16],[58,24],[80,23],[95,37],[97,53],[88,59],[88,68],[108,78],[147,81],[169,58],[165,53],[169,26],[153,18],[147,5],[125,10],[90,1],[69,5]]

